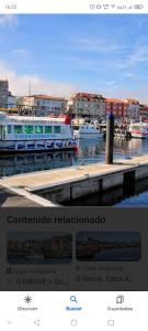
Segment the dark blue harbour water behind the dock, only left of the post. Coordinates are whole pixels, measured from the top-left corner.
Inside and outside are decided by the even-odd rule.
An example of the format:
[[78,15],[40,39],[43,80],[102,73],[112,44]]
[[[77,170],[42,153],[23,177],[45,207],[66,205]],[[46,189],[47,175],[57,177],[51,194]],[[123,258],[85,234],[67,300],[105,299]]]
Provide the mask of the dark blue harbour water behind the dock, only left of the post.
[[[102,150],[104,141],[101,139],[81,140],[78,152],[75,151],[56,151],[42,153],[9,154],[0,157],[0,175],[13,175],[34,171],[50,170],[96,162],[104,159]],[[102,159],[103,157],[103,159]]]

